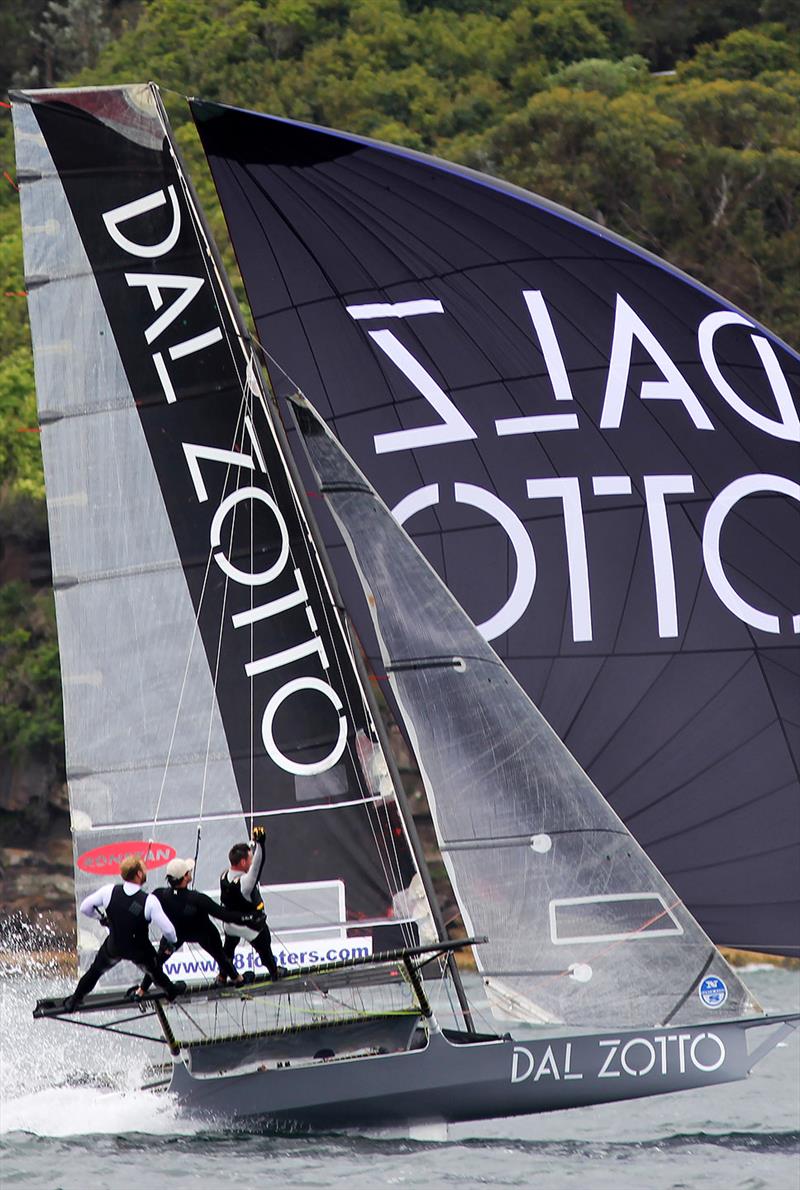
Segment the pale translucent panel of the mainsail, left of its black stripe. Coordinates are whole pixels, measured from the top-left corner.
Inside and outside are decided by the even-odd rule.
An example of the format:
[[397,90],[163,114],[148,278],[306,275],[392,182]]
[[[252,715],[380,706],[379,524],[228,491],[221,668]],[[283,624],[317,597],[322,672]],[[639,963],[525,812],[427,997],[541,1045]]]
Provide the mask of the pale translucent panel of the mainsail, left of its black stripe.
[[[149,88],[138,127],[163,142]],[[146,105],[146,106],[143,106]],[[113,879],[120,844],[157,869],[194,854],[201,790],[213,884],[246,837],[212,675],[114,334],[32,108],[14,104],[17,164],[61,651],[80,902]],[[169,820],[168,826],[160,822]],[[177,820],[177,821],[176,821]],[[120,827],[120,825],[124,825]],[[163,846],[162,846],[163,845]],[[165,848],[165,850],[164,850]],[[80,921],[81,950],[104,937]]]

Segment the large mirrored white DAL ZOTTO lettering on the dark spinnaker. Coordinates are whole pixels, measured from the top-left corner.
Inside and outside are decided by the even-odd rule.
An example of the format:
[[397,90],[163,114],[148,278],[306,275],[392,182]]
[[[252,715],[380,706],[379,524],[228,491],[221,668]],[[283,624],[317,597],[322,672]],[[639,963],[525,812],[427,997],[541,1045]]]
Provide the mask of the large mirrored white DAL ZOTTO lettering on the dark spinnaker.
[[[574,397],[545,299],[538,289],[525,289],[521,296],[538,339],[552,396],[563,408],[569,402],[574,403]],[[348,313],[358,322],[380,324],[389,320],[396,322],[410,318],[442,315],[445,311],[438,300],[419,299],[348,306]],[[761,432],[789,441],[800,441],[800,419],[777,356],[769,340],[762,334],[750,336],[775,399],[777,416],[774,418],[749,406],[725,380],[714,355],[714,337],[723,326],[756,330],[746,318],[729,311],[711,313],[700,322],[698,328],[699,357],[719,395],[731,409]],[[476,431],[456,407],[452,397],[445,393],[431,371],[400,342],[393,330],[370,328],[367,333],[375,346],[411,382],[417,393],[425,397],[438,416],[436,422],[418,428],[375,434],[376,455],[418,450],[477,438]],[[677,365],[621,295],[617,296],[600,428],[602,431],[619,430],[626,395],[630,399],[630,394],[637,389],[631,376],[631,361],[636,344],[639,345],[639,350],[644,349],[648,352],[663,376],[663,380],[660,381],[640,382],[638,384],[639,399],[642,401],[679,402],[695,430],[713,431],[713,422]],[[579,430],[579,412],[498,418],[494,421],[494,428],[498,437],[504,438],[514,434]],[[643,475],[636,478],[629,475],[595,475],[592,476],[590,493],[581,490],[581,483],[576,476],[540,478],[531,476],[524,482],[529,500],[545,500],[554,502],[556,507],[561,506],[569,578],[571,631],[575,641],[589,641],[594,638],[585,503],[587,500],[592,500],[593,506],[589,511],[594,511],[594,507],[598,507],[594,501],[607,499],[619,501],[620,497],[631,497],[631,509],[633,509],[635,484],[637,499],[643,499],[646,511],[646,536],[651,552],[658,637],[669,639],[680,635],[673,533],[668,508],[670,500],[674,502],[680,496],[694,493],[694,477],[692,475]],[[518,622],[531,601],[537,580],[533,543],[520,516],[495,493],[474,484],[455,483],[454,495],[456,502],[480,508],[496,521],[506,532],[513,550],[517,568],[512,590],[498,612],[479,625],[485,638],[494,640]],[[779,616],[748,602],[744,595],[736,589],[721,556],[720,539],[726,518],[745,497],[760,495],[781,495],[800,502],[800,484],[783,476],[770,474],[746,475],[730,483],[715,496],[706,514],[702,530],[702,560],[711,585],[729,612],[750,627],[762,632],[780,633],[782,625]],[[408,493],[393,512],[398,521],[404,525],[415,513],[437,505],[439,499],[439,486],[429,483]],[[800,634],[800,614],[792,615],[788,626],[790,632]]]

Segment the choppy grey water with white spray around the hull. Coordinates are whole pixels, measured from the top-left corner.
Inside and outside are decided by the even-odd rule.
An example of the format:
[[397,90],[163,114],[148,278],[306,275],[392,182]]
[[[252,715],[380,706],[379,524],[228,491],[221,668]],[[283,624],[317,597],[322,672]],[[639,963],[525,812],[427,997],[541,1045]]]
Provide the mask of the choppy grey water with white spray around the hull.
[[[751,970],[745,979],[768,1009],[800,1009],[800,972]],[[262,1180],[348,1190],[800,1186],[800,1036],[744,1083],[458,1125],[446,1140],[263,1135],[192,1119],[168,1096],[137,1090],[146,1066],[138,1042],[33,1022],[33,1000],[60,990],[30,970],[6,972],[0,985],[4,1190],[185,1190]]]

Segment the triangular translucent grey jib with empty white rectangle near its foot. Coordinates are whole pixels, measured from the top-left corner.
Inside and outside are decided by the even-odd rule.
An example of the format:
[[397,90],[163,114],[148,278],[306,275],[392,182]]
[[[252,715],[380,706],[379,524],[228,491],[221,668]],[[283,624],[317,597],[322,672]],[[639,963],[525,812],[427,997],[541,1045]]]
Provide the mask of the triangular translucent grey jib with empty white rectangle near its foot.
[[[499,1015],[621,1028],[757,1009],[321,419],[302,397],[293,407],[467,928],[488,935],[477,962]],[[726,989],[711,1012],[710,978]]]

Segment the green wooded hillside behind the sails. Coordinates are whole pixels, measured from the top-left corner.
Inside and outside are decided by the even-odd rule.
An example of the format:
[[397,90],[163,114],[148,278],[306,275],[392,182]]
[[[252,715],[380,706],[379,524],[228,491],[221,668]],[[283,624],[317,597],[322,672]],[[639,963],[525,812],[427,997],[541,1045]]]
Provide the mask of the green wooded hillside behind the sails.
[[[796,343],[799,27],[798,0],[5,0],[0,82],[157,79],[235,277],[169,88],[498,174],[664,256]],[[0,162],[13,175],[1,114]],[[43,522],[23,289],[18,199],[0,180],[0,544]],[[46,596],[0,588],[0,749],[56,746],[55,649]]]

